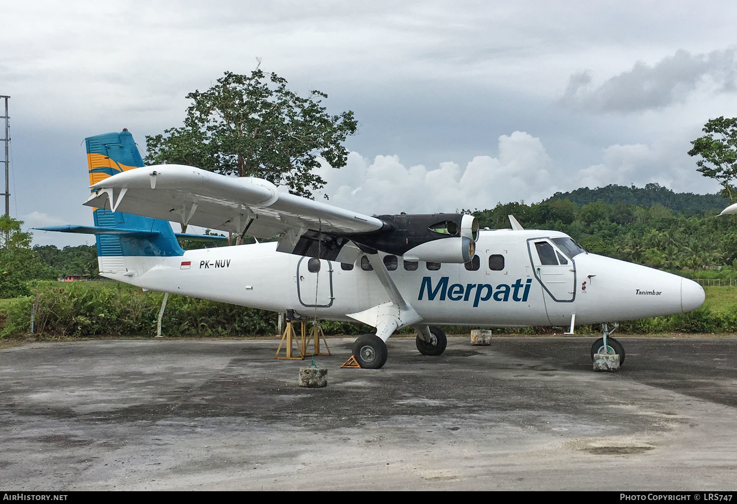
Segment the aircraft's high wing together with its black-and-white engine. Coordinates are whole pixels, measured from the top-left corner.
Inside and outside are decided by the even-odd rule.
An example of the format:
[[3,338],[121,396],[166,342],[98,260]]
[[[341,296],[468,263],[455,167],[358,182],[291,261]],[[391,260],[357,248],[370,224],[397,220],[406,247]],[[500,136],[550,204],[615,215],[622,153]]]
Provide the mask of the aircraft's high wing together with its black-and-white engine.
[[85,205],[229,231],[279,235],[280,252],[354,262],[361,251],[408,260],[468,262],[478,222],[466,214],[371,217],[279,192],[260,178],[231,178],[178,164],[140,167],[94,183]]

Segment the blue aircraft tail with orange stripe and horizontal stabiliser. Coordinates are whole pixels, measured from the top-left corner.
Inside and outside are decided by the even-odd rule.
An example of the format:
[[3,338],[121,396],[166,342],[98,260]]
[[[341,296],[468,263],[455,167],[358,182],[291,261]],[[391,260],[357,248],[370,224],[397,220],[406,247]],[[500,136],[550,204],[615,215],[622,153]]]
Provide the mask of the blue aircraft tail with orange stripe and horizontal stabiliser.
[[[128,130],[105,133],[85,139],[90,185],[117,173],[144,166],[136,142]],[[94,225],[55,225],[42,231],[94,234],[100,273],[119,273],[129,269],[127,257],[181,256],[171,224],[122,211],[94,209]]]

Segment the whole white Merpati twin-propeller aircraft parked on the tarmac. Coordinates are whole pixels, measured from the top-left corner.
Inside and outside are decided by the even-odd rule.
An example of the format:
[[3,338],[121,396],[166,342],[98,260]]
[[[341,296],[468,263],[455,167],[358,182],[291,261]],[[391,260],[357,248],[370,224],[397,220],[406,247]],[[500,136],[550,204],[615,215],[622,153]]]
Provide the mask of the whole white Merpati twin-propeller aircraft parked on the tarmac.
[[[417,349],[440,355],[435,324],[602,323],[591,354],[624,349],[607,322],[688,312],[696,282],[598,256],[559,231],[479,230],[467,214],[364,215],[177,164],[144,167],[128,130],[86,139],[94,226],[40,228],[97,237],[102,276],[148,290],[360,321],[362,368],[381,368],[386,340],[411,326]],[[491,190],[491,189],[490,189]],[[170,221],[278,242],[184,251]]]

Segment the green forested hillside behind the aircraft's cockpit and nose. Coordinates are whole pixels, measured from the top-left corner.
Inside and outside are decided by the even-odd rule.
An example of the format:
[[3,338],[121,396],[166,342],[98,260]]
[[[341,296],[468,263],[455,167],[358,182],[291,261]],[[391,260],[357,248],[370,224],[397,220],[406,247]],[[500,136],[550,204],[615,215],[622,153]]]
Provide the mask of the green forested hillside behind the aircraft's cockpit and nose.
[[728,204],[716,195],[676,194],[652,183],[577,189],[542,203],[500,203],[473,214],[482,228],[509,229],[507,216],[514,215],[525,228],[562,231],[604,256],[698,278],[715,278],[708,272],[737,278],[737,217],[716,218]]

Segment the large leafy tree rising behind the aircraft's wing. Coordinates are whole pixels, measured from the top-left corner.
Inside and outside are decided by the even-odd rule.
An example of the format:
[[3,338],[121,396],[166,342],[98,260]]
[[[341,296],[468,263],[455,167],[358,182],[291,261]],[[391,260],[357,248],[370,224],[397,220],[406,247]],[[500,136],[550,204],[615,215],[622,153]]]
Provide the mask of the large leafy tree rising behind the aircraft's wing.
[[226,71],[192,100],[184,127],[147,136],[147,164],[189,164],[223,175],[256,176],[312,197],[325,181],[314,170],[318,158],[331,167],[345,166],[346,137],[356,132],[351,111],[330,115],[327,95],[312,91],[300,97],[287,80],[259,68],[240,75]]

